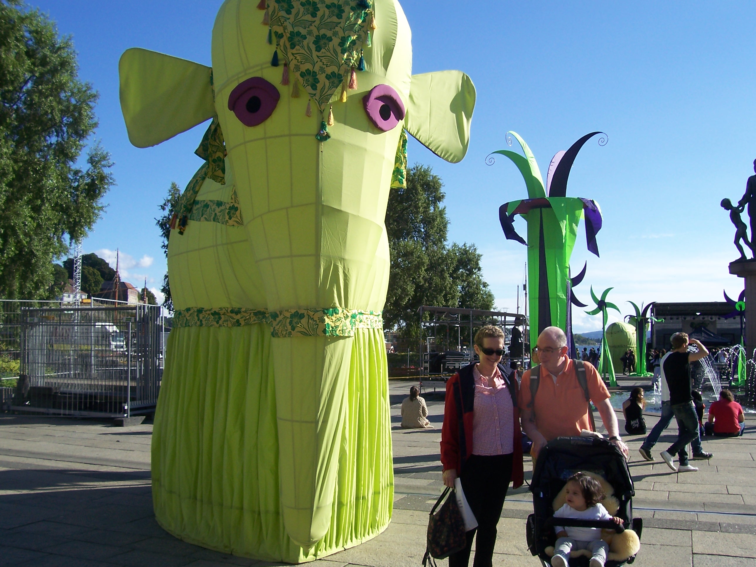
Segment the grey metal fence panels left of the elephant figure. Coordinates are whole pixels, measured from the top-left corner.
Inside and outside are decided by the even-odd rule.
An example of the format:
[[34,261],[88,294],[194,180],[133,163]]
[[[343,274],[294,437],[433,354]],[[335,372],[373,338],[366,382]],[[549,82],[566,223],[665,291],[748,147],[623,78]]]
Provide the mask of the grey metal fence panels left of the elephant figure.
[[153,411],[163,375],[159,306],[8,307],[0,354],[17,354],[20,365],[11,409],[93,417]]

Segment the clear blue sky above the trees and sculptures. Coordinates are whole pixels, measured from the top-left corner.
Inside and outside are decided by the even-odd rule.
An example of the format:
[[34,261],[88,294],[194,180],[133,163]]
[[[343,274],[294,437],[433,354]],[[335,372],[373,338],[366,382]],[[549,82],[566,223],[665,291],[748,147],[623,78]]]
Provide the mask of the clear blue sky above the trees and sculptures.
[[[85,252],[119,248],[132,283],[160,287],[166,262],[154,225],[171,181],[183,188],[200,165],[193,155],[206,125],[147,150],[126,137],[118,59],[143,47],[210,65],[218,0],[45,0],[31,2],[73,36],[80,76],[100,93],[97,138],[116,163],[106,212]],[[575,293],[634,302],[718,301],[742,290],[727,271],[738,256],[720,208],[741,197],[756,157],[756,43],[752,2],[417,2],[402,3],[413,30],[414,72],[460,69],[476,84],[469,151],[445,163],[414,141],[411,163],[441,175],[450,240],[475,243],[499,308],[514,311],[525,246],[503,239],[498,207],[525,197],[506,158],[505,134],[525,138],[541,171],[587,132],[568,195],[597,200],[600,258],[578,237],[573,271],[588,262]],[[516,142],[515,142],[516,144]],[[524,222],[516,223],[522,228]],[[582,228],[581,228],[582,230]],[[521,299],[522,304],[522,299]],[[575,313],[575,330],[600,327]]]

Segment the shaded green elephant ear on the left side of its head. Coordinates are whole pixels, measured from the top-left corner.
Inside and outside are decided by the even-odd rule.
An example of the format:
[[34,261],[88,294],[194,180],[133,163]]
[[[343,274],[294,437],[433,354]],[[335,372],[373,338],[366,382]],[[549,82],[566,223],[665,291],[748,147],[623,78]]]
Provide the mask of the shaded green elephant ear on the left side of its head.
[[136,147],[150,147],[215,116],[210,67],[132,48],[118,64],[121,110]]

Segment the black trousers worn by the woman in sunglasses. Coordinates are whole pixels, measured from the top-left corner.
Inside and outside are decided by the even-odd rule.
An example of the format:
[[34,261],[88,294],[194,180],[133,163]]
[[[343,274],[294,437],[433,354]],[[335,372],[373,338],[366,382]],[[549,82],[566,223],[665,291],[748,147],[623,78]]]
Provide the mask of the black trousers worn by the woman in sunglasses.
[[471,455],[460,482],[478,528],[467,532],[467,547],[449,556],[449,567],[467,567],[472,540],[476,540],[473,567],[491,567],[496,544],[496,525],[512,479],[512,455]]

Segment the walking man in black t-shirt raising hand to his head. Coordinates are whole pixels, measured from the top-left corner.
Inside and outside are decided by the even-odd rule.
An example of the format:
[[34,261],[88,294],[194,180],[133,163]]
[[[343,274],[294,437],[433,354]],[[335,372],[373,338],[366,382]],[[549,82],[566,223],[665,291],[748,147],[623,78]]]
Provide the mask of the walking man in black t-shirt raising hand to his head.
[[[688,344],[696,345],[699,352],[688,352]],[[677,420],[677,441],[667,451],[662,451],[662,459],[674,472],[695,471],[696,466],[688,464],[685,450],[689,442],[699,436],[699,418],[691,395],[690,363],[701,360],[708,355],[708,350],[696,339],[688,339],[686,333],[672,335],[672,352],[664,361],[664,375],[669,388],[669,403]],[[674,456],[678,455],[680,466],[674,465]]]

